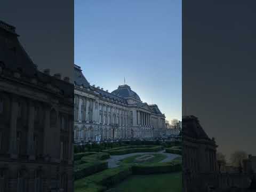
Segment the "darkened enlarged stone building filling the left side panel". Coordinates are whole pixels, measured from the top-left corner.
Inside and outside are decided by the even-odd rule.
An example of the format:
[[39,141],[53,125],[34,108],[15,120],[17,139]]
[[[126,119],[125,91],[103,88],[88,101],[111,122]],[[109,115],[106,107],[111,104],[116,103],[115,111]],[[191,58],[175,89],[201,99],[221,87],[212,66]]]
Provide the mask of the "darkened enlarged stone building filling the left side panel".
[[73,191],[74,85],[49,73],[0,21],[0,191]]

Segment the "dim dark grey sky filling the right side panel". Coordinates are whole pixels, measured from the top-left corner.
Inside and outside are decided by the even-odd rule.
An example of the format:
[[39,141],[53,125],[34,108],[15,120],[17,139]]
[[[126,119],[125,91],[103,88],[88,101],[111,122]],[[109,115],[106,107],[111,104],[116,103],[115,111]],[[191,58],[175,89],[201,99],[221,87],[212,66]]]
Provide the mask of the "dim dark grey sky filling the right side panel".
[[255,1],[182,1],[182,107],[218,150],[255,150]]

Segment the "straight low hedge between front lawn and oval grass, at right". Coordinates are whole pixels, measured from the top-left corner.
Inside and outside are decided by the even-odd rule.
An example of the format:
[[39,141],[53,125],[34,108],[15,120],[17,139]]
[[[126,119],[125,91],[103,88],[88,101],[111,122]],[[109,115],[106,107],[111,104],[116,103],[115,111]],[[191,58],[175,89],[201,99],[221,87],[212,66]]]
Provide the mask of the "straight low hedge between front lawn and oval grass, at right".
[[150,165],[134,165],[132,166],[132,174],[159,174],[181,171],[181,163],[154,163]]

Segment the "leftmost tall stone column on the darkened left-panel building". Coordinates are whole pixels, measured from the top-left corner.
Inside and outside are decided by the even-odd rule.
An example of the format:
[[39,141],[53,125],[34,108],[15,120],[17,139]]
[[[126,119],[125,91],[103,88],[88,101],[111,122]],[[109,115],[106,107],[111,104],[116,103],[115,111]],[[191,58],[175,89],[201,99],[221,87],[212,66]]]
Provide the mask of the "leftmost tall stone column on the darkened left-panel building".
[[11,158],[17,158],[17,118],[18,118],[18,98],[12,95],[12,113],[10,122],[10,143],[9,143],[9,154]]

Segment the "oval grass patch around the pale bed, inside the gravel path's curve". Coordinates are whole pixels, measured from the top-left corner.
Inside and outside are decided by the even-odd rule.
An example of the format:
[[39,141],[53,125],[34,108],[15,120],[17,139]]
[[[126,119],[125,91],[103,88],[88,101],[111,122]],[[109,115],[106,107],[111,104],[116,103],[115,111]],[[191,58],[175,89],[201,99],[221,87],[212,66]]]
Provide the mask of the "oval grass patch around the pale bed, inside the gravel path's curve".
[[[164,154],[143,154],[143,155],[154,155],[154,158],[148,159],[147,161],[141,162],[139,164],[150,164],[150,163],[157,163],[162,161],[166,158],[166,155]],[[122,159],[122,161],[119,163],[119,165],[132,165],[135,163],[135,158],[143,156],[143,155],[134,155],[131,157],[127,157]]]

